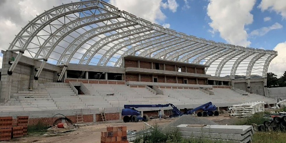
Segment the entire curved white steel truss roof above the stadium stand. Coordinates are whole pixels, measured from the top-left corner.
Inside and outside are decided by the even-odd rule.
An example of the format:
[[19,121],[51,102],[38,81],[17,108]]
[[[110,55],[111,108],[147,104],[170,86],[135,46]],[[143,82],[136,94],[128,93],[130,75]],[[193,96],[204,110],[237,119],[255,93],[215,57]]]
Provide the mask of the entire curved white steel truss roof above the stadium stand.
[[62,4],[37,15],[15,36],[8,51],[18,52],[8,74],[25,55],[43,61],[36,77],[46,62],[64,66],[63,74],[69,63],[122,67],[126,55],[205,64],[214,76],[266,77],[269,63],[277,56],[272,50],[176,32],[100,0]]

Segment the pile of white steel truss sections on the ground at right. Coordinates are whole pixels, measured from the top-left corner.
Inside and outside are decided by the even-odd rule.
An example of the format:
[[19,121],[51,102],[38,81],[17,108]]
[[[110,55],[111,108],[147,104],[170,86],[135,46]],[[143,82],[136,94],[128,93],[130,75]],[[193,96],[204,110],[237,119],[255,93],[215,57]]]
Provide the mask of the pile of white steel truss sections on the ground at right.
[[252,116],[257,112],[264,111],[264,105],[266,103],[263,101],[257,102],[246,102],[238,105],[233,105],[229,110],[231,111],[230,116],[236,117],[247,117]]

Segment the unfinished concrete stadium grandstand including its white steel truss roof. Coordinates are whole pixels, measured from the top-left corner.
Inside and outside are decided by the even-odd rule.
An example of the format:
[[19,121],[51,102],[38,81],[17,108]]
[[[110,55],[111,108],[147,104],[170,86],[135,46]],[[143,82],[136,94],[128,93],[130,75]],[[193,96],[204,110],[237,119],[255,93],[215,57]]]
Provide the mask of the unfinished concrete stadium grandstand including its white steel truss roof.
[[189,36],[99,0],[45,11],[2,53],[1,116],[95,122],[121,119],[124,104],[276,103],[266,88],[276,51]]

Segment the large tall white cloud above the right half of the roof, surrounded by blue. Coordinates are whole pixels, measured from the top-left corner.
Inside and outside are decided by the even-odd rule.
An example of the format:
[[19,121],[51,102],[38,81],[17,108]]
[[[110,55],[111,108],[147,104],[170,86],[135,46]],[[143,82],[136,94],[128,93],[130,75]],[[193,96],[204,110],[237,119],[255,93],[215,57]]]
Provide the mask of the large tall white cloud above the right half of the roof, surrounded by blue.
[[210,0],[207,6],[207,15],[212,20],[212,34],[219,32],[220,36],[228,43],[240,46],[249,46],[245,25],[253,22],[250,13],[255,0]]

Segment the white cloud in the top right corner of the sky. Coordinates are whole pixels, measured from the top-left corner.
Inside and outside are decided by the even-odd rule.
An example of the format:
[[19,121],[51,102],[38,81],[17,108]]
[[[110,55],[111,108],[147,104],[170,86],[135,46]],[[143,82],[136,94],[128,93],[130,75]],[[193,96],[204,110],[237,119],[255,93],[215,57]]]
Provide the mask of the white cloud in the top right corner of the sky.
[[262,0],[258,8],[261,11],[275,11],[283,18],[286,18],[286,1],[285,0]]

